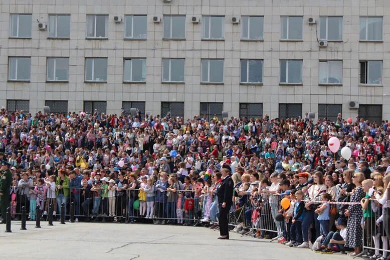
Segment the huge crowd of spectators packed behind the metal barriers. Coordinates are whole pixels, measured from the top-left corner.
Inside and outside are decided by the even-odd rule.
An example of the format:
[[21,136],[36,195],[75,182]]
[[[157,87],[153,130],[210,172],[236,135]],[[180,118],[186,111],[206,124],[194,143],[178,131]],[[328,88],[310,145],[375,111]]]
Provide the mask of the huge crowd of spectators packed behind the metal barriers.
[[[184,119],[140,111],[33,116],[2,108],[0,122],[0,160],[12,174],[9,197],[0,203],[10,201],[13,218],[25,206],[34,220],[37,205],[45,217],[50,204],[58,216],[62,203],[69,215],[73,202],[76,221],[153,219],[216,228],[223,172],[234,182],[234,231],[351,256],[364,243],[377,250],[363,257],[388,257],[387,120],[348,122],[341,114],[335,121],[268,115]],[[330,152],[330,137],[351,149],[348,160],[340,150]],[[6,180],[2,174],[0,181]],[[283,198],[291,200],[286,209]],[[266,223],[268,217],[272,221]]]

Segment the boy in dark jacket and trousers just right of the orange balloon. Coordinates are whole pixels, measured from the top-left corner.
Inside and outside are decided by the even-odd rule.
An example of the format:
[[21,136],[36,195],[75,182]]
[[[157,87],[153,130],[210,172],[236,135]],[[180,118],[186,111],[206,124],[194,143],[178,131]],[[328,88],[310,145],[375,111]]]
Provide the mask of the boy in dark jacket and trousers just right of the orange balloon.
[[[305,217],[305,203],[302,201],[303,200],[304,193],[301,190],[298,190],[295,192],[295,204],[294,204],[294,215],[293,219],[291,221],[291,230],[290,234],[295,233],[295,237],[292,236],[291,238],[291,243],[289,244],[290,247],[298,246],[303,243],[303,238],[302,238],[302,221],[303,218]],[[295,232],[294,232],[295,231]]]

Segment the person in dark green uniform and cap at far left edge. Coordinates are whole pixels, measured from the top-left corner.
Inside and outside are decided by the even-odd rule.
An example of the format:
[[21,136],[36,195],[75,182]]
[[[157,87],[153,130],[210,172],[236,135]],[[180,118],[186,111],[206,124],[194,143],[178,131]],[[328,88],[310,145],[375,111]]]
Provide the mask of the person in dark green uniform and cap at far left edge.
[[2,177],[0,178],[0,212],[2,213],[2,224],[6,223],[6,211],[10,206],[10,187],[12,185],[11,164],[7,161],[2,162]]

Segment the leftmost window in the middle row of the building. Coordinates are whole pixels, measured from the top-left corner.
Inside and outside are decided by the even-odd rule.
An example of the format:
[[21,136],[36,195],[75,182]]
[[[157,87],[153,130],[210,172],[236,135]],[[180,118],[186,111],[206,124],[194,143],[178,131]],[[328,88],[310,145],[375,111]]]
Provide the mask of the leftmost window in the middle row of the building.
[[30,81],[30,57],[10,57],[9,80]]

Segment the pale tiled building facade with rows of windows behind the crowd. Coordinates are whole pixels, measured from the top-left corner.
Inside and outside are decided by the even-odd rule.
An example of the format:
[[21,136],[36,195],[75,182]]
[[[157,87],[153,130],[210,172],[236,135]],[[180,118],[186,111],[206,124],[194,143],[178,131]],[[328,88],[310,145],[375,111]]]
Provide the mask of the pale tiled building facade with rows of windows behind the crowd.
[[3,0],[0,11],[9,110],[390,117],[390,1]]

